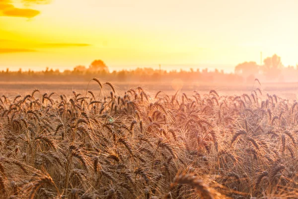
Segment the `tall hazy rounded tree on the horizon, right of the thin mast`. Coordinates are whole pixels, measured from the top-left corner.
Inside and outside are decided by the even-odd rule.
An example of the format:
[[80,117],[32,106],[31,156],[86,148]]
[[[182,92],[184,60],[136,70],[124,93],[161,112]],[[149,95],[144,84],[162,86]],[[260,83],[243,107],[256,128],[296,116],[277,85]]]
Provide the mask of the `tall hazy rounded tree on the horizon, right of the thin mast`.
[[281,57],[274,54],[272,57],[267,57],[264,59],[264,65],[262,66],[262,71],[267,79],[278,78],[283,64],[281,62]]

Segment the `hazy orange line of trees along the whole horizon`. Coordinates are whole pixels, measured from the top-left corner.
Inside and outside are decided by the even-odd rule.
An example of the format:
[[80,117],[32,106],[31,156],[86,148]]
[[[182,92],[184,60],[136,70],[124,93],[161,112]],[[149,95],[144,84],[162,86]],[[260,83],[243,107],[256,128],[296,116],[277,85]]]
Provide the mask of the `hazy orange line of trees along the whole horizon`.
[[183,81],[198,82],[251,82],[255,78],[263,82],[293,82],[298,81],[298,65],[285,67],[281,57],[273,55],[264,59],[262,65],[256,62],[243,62],[235,66],[234,73],[224,73],[224,70],[206,69],[186,70],[157,70],[152,68],[137,68],[135,70],[110,71],[102,60],[94,60],[88,67],[78,65],[73,70],[53,70],[46,68],[42,71],[0,71],[1,81],[86,81],[93,77],[109,81]]

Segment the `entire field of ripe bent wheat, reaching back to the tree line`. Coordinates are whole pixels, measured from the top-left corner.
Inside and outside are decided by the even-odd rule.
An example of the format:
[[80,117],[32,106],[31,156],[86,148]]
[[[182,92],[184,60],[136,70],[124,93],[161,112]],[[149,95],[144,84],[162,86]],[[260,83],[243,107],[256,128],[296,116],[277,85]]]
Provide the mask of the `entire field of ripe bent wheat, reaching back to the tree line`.
[[297,84],[0,85],[0,198],[298,198]]

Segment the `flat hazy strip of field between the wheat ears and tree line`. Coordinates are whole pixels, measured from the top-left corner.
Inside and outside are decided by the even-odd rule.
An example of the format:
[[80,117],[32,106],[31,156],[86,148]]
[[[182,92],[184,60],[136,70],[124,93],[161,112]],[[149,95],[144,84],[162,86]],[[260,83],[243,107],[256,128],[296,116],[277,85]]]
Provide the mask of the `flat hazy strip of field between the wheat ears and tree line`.
[[[103,81],[104,82],[104,81]],[[181,94],[191,95],[193,91],[207,93],[210,90],[216,90],[222,95],[241,95],[250,94],[253,84],[227,84],[227,83],[204,83],[204,82],[182,82],[173,80],[172,82],[111,82],[117,92],[120,94],[131,88],[142,87],[150,94],[154,95],[157,91],[163,91],[166,94],[174,94],[181,88]],[[262,84],[262,83],[261,83]],[[34,89],[39,89],[41,93],[56,92],[58,95],[71,95],[72,91],[84,94],[88,86],[88,81],[84,82],[0,82],[0,94],[15,96],[31,94]],[[259,86],[254,85],[254,89],[260,88],[263,95],[276,94],[281,98],[297,100],[298,83],[265,83]],[[99,93],[100,89],[96,83],[90,82],[88,90]],[[54,96],[55,97],[55,96]]]

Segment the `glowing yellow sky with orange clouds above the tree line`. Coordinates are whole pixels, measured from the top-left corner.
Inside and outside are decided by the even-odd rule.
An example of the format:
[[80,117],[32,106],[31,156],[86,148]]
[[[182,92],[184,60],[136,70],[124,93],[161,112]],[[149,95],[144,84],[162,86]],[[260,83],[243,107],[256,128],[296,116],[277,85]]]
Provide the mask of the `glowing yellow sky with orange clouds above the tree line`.
[[0,0],[0,70],[298,63],[297,0]]

